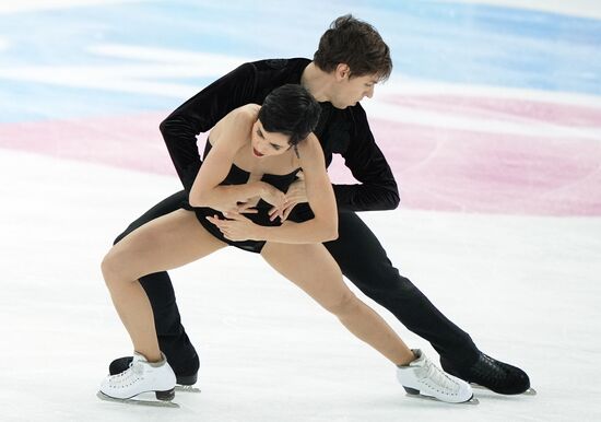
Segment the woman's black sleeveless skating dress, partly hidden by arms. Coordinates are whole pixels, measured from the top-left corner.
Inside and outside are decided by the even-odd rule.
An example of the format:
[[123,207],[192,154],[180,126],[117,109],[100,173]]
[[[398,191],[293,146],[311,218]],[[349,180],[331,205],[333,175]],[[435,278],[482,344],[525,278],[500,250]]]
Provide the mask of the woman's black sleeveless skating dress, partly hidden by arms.
[[[211,143],[207,141],[207,145],[204,148],[204,154],[203,160],[207,157],[207,154],[209,151],[211,151]],[[296,174],[300,171],[300,168],[296,168],[294,172],[288,173],[286,175],[271,175],[271,174],[264,174],[261,177],[261,181],[264,181],[267,184],[270,184],[271,186],[280,189],[281,191],[285,192],[287,191],[290,185],[296,180]],[[225,177],[225,179],[220,184],[222,186],[225,185],[244,185],[248,181],[248,178],[250,177],[250,173],[239,168],[235,164],[232,164],[232,167],[229,168],[229,173]],[[220,218],[224,219],[223,213],[220,211],[213,210],[212,208],[208,207],[192,207],[188,202],[188,200],[184,201],[181,204],[181,208],[193,211],[197,214],[197,219],[202,224],[202,226],[211,233],[213,236],[219,238],[220,241],[225,242],[228,245],[236,246],[240,249],[252,251],[256,254],[259,254],[261,249],[263,248],[266,242],[264,241],[241,241],[241,242],[235,242],[229,241],[223,236],[223,233],[212,224],[209,220],[207,220],[207,216],[213,216],[219,215]],[[278,226],[282,225],[280,222],[280,219],[275,219],[274,221],[269,220],[269,210],[272,208],[272,206],[262,199],[259,200],[257,206],[255,207],[257,209],[257,213],[255,214],[244,214],[246,218],[251,220],[254,223],[258,225],[266,225],[266,226]]]

